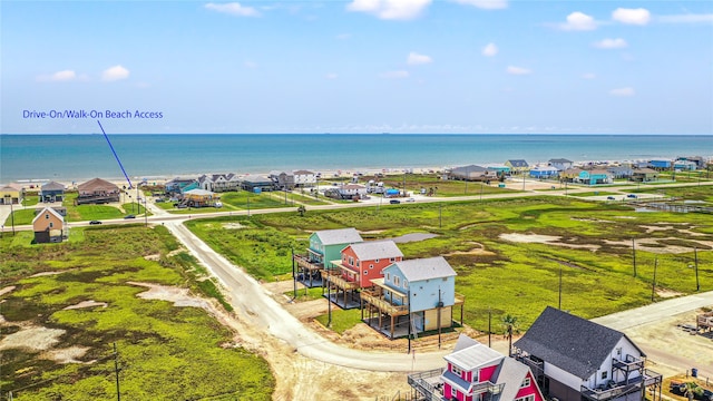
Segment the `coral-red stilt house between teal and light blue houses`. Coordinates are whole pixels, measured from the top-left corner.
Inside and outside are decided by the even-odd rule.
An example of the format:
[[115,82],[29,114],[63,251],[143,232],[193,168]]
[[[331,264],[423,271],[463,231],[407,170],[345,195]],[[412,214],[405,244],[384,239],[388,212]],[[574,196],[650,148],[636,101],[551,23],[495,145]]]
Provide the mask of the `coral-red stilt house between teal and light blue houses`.
[[[342,258],[328,272],[328,285],[334,288],[334,302],[343,309],[360,306],[356,293],[383,277],[384,267],[401,262],[403,253],[391,239],[367,241],[346,245]],[[341,296],[340,296],[341,293]],[[349,300],[353,300],[350,304]]]

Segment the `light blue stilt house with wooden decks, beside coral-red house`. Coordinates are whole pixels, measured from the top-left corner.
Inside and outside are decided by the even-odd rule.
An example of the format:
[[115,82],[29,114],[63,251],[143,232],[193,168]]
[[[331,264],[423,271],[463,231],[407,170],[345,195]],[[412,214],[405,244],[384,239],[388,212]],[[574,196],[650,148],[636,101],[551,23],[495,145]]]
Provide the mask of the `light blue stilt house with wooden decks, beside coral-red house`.
[[442,256],[394,262],[383,278],[371,282],[361,292],[365,321],[391,339],[406,335],[409,326],[416,332],[450,327],[452,306],[463,304],[456,295],[456,272]]

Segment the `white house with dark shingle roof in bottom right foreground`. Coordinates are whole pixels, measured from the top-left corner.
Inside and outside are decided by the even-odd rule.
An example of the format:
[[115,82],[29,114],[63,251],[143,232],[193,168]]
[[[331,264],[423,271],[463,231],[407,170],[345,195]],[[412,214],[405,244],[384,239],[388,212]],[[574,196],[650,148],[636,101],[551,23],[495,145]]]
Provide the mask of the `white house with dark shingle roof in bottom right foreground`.
[[548,306],[512,344],[545,395],[561,401],[643,400],[661,374],[626,334]]

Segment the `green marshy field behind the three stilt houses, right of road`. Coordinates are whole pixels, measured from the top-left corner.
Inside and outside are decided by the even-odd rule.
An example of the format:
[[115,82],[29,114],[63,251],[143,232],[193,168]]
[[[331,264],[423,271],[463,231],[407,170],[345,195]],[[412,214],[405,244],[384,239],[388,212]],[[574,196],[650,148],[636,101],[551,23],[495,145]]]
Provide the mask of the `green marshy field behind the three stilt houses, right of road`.
[[[713,241],[713,216],[636,213],[619,204],[577,198],[519,198],[484,203],[414,204],[408,208],[354,208],[193,221],[188,227],[253,276],[272,281],[291,271],[291,248],[304,253],[316,229],[356,227],[365,239],[407,233],[437,237],[399,244],[407,258],[443,255],[458,272],[456,291],[466,295],[466,323],[487,326],[494,317],[516,315],[526,329],[546,305],[558,305],[585,317],[651,302],[654,262],[656,284],[681,294],[696,291],[693,246],[699,251],[700,291],[713,290],[713,252],[695,239]],[[237,224],[236,224],[237,223]],[[655,229],[652,229],[654,227]],[[683,229],[680,231],[680,229]],[[520,243],[507,234],[549,235],[553,243]],[[632,238],[656,241],[638,248],[633,274]],[[665,246],[686,246],[670,253]],[[660,300],[660,295],[654,296]]]

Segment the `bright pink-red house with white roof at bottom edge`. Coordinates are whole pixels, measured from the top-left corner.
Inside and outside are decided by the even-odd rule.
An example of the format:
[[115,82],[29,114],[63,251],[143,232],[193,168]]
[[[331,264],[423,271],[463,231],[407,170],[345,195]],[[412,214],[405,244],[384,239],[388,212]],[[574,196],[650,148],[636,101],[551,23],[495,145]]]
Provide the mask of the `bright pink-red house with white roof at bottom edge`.
[[409,374],[423,400],[544,401],[530,369],[460,334],[446,369]]

